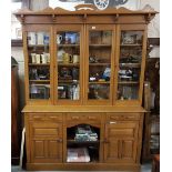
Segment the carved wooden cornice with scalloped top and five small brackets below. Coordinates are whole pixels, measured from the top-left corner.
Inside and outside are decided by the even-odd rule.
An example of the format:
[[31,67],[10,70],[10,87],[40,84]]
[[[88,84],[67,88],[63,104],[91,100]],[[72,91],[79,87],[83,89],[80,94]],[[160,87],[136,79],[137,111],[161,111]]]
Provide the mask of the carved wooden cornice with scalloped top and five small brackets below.
[[151,19],[158,12],[154,11],[150,6],[145,6],[143,10],[129,10],[127,8],[109,8],[105,10],[99,10],[93,4],[79,4],[75,7],[75,11],[69,11],[62,8],[45,8],[40,11],[31,11],[29,9],[21,9],[14,14],[20,20],[20,22],[24,23],[24,18],[27,16],[51,16],[52,22],[57,22],[58,16],[81,16],[83,18],[83,22],[87,22],[88,16],[114,16],[114,23],[118,22],[119,18],[121,16],[143,16],[145,19],[145,22],[149,23]]

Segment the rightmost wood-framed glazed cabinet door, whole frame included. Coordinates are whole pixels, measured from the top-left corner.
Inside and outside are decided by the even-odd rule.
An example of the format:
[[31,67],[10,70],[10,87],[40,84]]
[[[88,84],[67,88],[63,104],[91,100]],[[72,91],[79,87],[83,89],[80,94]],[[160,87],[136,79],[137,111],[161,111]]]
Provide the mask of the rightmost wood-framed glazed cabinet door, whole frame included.
[[115,103],[141,105],[146,53],[145,26],[121,24],[117,31]]

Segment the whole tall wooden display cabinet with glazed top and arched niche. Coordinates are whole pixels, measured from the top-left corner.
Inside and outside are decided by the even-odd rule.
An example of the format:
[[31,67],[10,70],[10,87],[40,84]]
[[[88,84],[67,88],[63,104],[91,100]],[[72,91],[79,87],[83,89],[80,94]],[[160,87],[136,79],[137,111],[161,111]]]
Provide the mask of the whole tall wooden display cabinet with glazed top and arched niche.
[[88,7],[16,13],[28,170],[140,169],[146,26],[156,12]]

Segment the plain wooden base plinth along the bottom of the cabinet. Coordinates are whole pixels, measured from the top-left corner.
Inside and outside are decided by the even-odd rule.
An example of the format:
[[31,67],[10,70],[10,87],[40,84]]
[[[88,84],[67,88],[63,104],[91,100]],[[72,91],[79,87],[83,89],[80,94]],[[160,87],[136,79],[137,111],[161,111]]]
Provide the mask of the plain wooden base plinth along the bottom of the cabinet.
[[140,172],[140,164],[110,164],[110,163],[27,163],[29,171],[128,171]]

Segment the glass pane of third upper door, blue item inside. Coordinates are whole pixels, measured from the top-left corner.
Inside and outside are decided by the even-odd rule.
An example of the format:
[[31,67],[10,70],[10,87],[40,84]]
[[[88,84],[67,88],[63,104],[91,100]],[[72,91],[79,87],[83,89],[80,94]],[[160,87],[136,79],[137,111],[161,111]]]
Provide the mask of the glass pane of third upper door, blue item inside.
[[112,31],[90,31],[88,99],[110,98]]

